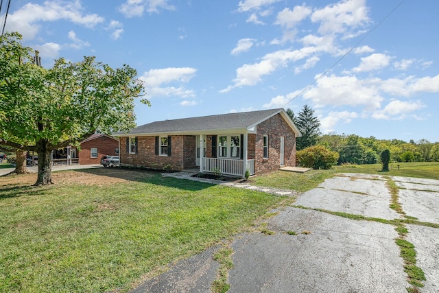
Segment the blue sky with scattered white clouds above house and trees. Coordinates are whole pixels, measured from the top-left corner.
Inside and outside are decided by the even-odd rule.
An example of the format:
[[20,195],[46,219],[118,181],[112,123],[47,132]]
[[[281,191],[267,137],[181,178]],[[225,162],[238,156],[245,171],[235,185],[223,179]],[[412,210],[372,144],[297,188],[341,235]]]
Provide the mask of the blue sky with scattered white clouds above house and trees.
[[436,142],[438,12],[437,0],[12,0],[5,30],[43,67],[96,56],[137,69],[152,103],[136,102],[138,125],[308,104],[322,133]]

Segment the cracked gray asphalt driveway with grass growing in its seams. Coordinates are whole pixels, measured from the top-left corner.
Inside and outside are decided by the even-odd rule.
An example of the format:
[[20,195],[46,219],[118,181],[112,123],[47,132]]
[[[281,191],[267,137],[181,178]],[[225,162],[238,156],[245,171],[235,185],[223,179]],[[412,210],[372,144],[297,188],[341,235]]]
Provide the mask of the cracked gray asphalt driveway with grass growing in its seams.
[[[342,174],[300,194],[296,207],[282,207],[267,220],[269,234],[237,235],[229,292],[407,292],[407,274],[395,240],[395,226],[351,220],[330,213],[399,219],[390,209],[386,178]],[[439,180],[392,177],[408,216],[439,223]],[[299,208],[300,206],[302,208]],[[307,208],[307,209],[304,209]],[[416,266],[427,281],[420,292],[439,292],[439,229],[407,224],[405,238],[415,246]],[[218,248],[180,261],[133,292],[209,292]]]

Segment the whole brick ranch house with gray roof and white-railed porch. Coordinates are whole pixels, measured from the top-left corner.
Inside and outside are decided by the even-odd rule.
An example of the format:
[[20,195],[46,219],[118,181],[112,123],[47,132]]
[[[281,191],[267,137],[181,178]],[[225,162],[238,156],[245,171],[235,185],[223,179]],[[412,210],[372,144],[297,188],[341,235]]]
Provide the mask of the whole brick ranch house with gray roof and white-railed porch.
[[115,135],[121,166],[244,177],[247,169],[253,175],[295,166],[300,132],[279,108],[156,121]]

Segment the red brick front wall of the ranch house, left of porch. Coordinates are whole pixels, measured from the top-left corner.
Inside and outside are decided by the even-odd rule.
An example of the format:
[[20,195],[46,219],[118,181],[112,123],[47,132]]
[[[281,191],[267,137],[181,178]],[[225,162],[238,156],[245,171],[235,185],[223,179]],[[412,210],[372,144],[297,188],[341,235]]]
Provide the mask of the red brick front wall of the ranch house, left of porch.
[[121,164],[180,171],[195,167],[195,137],[190,135],[173,135],[171,137],[171,156],[155,154],[156,137],[137,137],[137,154],[126,151],[126,137],[121,137]]

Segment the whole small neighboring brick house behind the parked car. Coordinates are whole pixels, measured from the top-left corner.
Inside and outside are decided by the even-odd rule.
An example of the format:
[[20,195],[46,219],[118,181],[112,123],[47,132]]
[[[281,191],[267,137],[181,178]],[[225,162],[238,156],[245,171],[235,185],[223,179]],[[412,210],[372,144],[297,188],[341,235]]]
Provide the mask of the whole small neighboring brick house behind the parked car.
[[79,164],[99,164],[102,156],[117,156],[119,154],[119,141],[106,134],[93,134],[88,139],[81,141],[79,151]]

